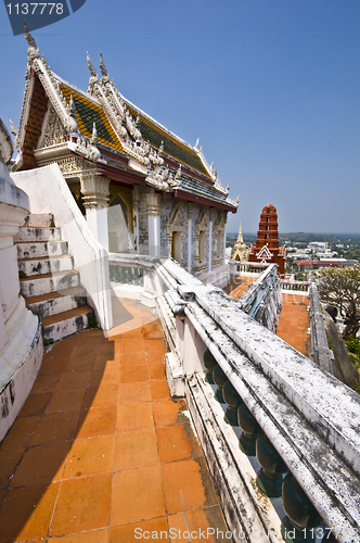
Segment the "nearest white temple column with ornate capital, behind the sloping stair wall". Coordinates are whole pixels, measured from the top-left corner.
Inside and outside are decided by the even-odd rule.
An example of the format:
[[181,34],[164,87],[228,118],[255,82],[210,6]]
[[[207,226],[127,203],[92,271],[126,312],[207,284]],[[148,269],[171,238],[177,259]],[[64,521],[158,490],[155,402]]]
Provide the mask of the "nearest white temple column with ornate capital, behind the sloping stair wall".
[[80,176],[82,203],[88,225],[106,251],[108,251],[108,186],[110,179],[97,173]]

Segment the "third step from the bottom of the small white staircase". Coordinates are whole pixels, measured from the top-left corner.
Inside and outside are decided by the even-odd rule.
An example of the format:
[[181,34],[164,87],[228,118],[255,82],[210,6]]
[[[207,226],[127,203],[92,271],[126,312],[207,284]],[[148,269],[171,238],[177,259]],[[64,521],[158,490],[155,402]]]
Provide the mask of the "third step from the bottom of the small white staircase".
[[20,291],[24,298],[38,296],[49,292],[79,287],[79,273],[55,272],[54,274],[35,275],[20,280]]

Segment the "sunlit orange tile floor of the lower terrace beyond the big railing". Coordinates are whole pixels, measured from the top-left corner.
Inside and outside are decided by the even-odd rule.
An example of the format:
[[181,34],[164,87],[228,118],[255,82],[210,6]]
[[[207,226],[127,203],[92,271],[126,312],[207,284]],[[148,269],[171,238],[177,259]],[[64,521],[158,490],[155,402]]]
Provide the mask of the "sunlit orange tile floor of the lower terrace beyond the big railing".
[[309,298],[297,294],[282,294],[283,307],[281,311],[277,336],[294,349],[310,357],[310,336],[307,330],[310,326]]

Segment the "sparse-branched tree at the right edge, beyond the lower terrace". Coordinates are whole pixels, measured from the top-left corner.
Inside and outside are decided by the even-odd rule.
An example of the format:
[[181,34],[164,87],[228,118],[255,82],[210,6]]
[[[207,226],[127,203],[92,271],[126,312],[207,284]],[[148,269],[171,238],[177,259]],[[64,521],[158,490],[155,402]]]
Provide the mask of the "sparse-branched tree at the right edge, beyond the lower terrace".
[[327,268],[318,283],[322,302],[335,305],[345,319],[343,338],[356,337],[360,328],[360,267]]

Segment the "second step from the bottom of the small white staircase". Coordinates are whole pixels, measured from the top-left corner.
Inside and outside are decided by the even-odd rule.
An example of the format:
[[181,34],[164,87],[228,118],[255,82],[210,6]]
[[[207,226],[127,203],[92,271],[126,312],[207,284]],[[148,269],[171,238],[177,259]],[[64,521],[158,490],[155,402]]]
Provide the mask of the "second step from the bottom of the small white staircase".
[[64,311],[81,307],[87,303],[87,291],[82,287],[64,289],[61,292],[49,292],[25,300],[26,306],[41,318],[50,317]]

